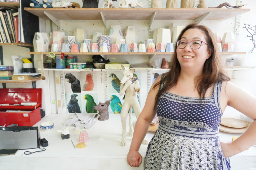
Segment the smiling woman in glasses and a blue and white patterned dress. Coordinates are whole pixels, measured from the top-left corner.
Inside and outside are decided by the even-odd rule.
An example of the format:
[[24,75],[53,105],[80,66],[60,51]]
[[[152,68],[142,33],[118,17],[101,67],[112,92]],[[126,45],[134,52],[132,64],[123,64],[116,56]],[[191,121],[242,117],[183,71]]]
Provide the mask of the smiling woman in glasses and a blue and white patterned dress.
[[[136,122],[127,155],[130,166],[155,114],[159,128],[148,144],[145,169],[230,169],[228,157],[256,143],[256,98],[229,81],[211,31],[187,25],[178,37],[168,73],[159,76]],[[226,106],[254,120],[233,142],[220,142],[219,124]]]

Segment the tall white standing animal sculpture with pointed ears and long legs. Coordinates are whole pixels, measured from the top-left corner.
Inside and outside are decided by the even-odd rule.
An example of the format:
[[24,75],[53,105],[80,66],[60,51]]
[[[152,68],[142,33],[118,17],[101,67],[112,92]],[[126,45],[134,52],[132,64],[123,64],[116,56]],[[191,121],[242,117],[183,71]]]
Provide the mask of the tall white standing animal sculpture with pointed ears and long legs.
[[[127,67],[124,67],[121,65],[123,69],[123,78],[121,80],[120,85],[120,96],[122,96],[124,93],[124,103],[121,110],[121,122],[122,122],[122,140],[120,145],[125,146],[126,145],[126,118],[128,111],[130,109],[129,113],[129,131],[130,136],[133,135],[133,126],[132,126],[132,108],[134,109],[134,113],[136,118],[138,119],[141,108],[140,103],[138,102],[137,94],[140,94],[140,84],[139,80],[136,76],[133,76],[133,73],[135,72],[134,69],[129,69]],[[142,144],[147,145],[148,141],[143,140]]]

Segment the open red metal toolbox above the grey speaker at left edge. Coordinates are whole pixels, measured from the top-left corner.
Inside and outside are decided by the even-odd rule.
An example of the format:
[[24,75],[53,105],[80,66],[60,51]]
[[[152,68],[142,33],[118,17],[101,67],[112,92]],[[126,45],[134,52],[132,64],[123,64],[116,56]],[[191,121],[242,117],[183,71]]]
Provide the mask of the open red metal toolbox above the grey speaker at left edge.
[[[14,104],[37,102],[33,106],[16,106]],[[2,88],[0,89],[0,125],[18,124],[18,126],[33,126],[41,120],[40,107],[42,104],[41,88]],[[17,112],[6,112],[17,110]],[[18,112],[30,111],[30,112]]]

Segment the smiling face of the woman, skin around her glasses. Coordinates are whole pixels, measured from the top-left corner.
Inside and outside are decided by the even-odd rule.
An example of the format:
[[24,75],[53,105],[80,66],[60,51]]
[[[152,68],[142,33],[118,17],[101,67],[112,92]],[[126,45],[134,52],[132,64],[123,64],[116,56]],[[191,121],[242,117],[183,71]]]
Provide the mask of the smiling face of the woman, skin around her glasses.
[[[200,40],[207,43],[205,34],[196,28],[185,31],[180,40]],[[177,47],[177,58],[181,69],[203,69],[205,61],[211,56],[205,43],[202,43],[199,49],[192,49],[189,43],[183,49]]]

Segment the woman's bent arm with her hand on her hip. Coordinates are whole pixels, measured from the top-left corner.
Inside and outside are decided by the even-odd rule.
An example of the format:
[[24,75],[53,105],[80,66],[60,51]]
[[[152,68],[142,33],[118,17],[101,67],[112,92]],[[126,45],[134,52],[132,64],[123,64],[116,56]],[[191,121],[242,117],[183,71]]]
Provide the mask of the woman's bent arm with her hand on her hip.
[[227,82],[225,91],[228,106],[254,120],[239,138],[233,142],[221,142],[224,156],[230,157],[256,144],[256,97],[231,82]]

